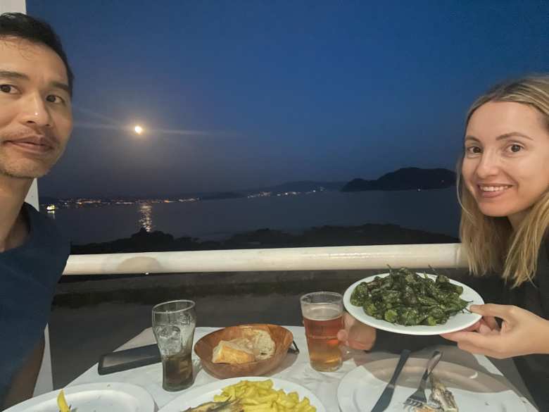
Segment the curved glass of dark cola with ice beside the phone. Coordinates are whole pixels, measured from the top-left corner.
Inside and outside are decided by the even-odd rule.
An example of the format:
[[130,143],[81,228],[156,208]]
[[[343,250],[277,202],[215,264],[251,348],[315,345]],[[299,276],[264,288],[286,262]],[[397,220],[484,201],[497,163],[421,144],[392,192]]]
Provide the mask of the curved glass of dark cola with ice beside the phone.
[[169,301],[153,307],[153,333],[162,358],[162,387],[167,391],[179,391],[193,383],[195,327],[194,301]]

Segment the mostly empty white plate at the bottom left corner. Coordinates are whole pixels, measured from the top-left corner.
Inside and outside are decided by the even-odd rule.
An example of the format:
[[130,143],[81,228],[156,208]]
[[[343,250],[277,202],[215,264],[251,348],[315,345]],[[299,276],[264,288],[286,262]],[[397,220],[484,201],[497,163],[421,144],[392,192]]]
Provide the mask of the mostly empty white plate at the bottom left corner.
[[[145,389],[122,382],[103,382],[63,388],[71,410],[77,412],[154,412],[156,405]],[[59,389],[28,399],[5,412],[59,412]]]

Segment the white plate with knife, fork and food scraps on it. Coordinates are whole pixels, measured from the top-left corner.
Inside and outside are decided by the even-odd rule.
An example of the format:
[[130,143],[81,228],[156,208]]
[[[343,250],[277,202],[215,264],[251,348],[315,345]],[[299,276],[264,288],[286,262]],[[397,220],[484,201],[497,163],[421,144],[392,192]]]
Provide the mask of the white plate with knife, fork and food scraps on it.
[[[345,375],[337,388],[341,412],[370,411],[391,379],[397,361],[398,358],[391,358],[366,363]],[[403,411],[403,402],[419,386],[426,366],[427,359],[408,359],[385,412]],[[526,412],[524,401],[515,392],[485,373],[444,361],[433,373],[453,393],[460,411]],[[427,388],[429,399],[431,389],[429,385]]]

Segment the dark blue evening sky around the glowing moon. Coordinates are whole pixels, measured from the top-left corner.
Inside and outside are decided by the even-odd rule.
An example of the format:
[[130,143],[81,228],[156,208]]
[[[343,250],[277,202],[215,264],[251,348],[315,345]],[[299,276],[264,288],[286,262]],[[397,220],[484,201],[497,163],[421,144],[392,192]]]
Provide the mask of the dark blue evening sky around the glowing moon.
[[[55,27],[76,75],[77,127],[39,182],[53,196],[453,168],[477,94],[549,68],[541,0],[27,0],[27,12]],[[136,122],[201,133],[113,128]]]

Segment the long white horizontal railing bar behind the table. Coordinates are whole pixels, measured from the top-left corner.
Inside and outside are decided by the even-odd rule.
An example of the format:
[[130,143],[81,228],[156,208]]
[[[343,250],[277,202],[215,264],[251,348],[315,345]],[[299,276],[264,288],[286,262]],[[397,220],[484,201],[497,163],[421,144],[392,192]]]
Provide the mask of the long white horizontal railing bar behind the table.
[[457,243],[71,255],[63,275],[466,268],[463,255]]

